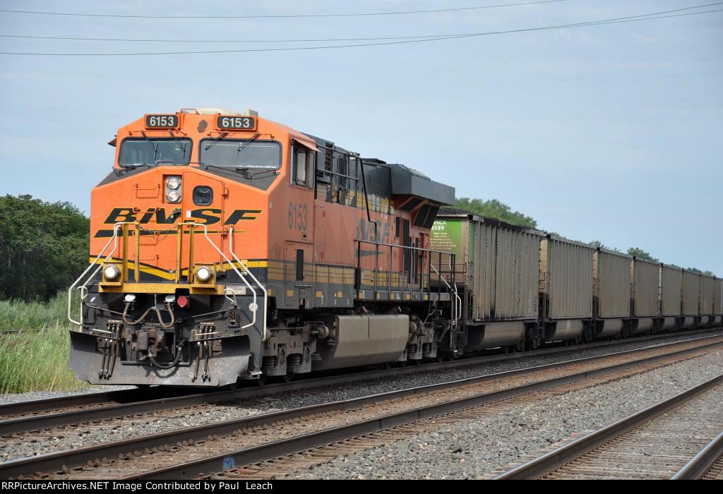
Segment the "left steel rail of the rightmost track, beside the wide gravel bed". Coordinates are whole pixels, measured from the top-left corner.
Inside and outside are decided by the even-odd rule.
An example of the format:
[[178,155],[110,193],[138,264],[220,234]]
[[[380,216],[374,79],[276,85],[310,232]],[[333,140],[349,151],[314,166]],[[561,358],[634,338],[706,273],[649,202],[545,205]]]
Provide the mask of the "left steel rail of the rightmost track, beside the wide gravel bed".
[[628,430],[640,425],[641,423],[649,422],[649,420],[662,415],[664,412],[677,407],[679,404],[690,401],[695,398],[698,394],[703,391],[708,391],[715,386],[723,383],[723,374],[719,374],[708,381],[693,386],[674,397],[662,400],[650,407],[647,407],[639,412],[628,415],[617,422],[606,425],[603,428],[599,428],[587,436],[572,441],[571,443],[560,446],[560,448],[553,449],[542,456],[532,459],[529,462],[523,463],[518,467],[508,470],[495,477],[495,480],[525,480],[534,479],[540,477],[547,472],[557,469],[562,464],[568,463],[571,460],[585,454],[591,449],[610,441],[617,436],[627,432]]

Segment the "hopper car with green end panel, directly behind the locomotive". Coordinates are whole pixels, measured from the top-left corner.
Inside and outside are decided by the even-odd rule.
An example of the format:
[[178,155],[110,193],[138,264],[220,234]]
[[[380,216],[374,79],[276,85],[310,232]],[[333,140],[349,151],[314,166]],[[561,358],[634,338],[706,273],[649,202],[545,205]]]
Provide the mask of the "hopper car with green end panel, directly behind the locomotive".
[[462,298],[466,351],[539,345],[539,241],[542,233],[443,209],[432,248],[452,251]]

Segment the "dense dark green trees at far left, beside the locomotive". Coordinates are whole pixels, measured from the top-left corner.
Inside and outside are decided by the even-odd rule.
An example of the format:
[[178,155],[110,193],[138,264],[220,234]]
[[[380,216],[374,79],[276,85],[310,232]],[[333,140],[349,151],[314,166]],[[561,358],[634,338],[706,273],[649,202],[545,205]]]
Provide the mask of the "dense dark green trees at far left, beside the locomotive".
[[90,220],[69,202],[0,196],[0,300],[48,300],[87,266]]

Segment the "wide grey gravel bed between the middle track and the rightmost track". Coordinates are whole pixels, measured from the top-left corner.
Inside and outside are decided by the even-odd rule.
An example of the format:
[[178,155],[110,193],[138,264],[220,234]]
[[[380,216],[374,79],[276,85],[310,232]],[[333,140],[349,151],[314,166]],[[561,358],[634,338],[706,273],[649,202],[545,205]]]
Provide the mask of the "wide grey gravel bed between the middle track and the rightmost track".
[[510,406],[339,456],[295,479],[479,479],[492,476],[723,372],[718,350],[620,381]]

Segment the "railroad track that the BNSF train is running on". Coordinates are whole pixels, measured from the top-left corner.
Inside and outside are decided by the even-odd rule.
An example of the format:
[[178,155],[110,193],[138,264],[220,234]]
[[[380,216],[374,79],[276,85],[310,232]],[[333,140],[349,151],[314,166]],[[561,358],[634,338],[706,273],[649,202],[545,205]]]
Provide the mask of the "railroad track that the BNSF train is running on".
[[[720,329],[704,329],[686,333],[696,336]],[[677,337],[680,334],[657,334],[636,338],[632,341],[654,341]],[[626,340],[627,341],[627,340]],[[596,342],[585,345],[584,349],[619,345],[620,341]],[[236,390],[198,391],[197,389],[174,389],[153,387],[150,389],[124,389],[94,394],[78,394],[69,397],[41,399],[31,402],[16,402],[0,405],[0,438],[29,430],[58,428],[63,425],[108,420],[124,415],[140,415],[158,410],[231,402],[239,399],[253,399],[268,394],[280,394],[320,386],[335,386],[353,381],[375,380],[398,377],[413,373],[439,371],[451,368],[464,368],[481,363],[497,363],[523,358],[535,358],[547,355],[565,355],[577,352],[581,347],[550,347],[534,352],[513,353],[508,355],[487,355],[464,358],[446,363],[427,363],[411,365],[406,368],[392,368],[382,371],[361,371],[319,378],[307,378],[291,383],[270,384],[263,387],[251,387]]]

